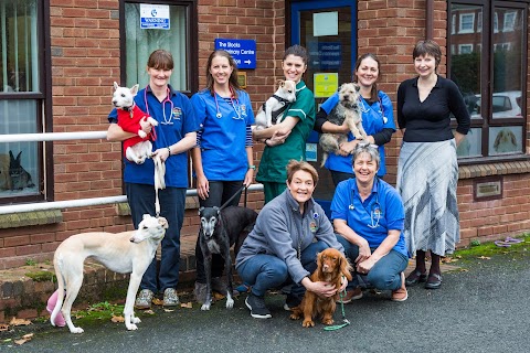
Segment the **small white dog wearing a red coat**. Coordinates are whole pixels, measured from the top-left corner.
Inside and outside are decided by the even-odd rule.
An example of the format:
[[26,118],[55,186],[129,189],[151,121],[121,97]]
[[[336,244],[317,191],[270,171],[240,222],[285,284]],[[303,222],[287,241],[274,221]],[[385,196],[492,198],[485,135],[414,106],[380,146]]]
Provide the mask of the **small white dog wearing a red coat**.
[[[137,135],[124,141],[125,157],[131,162],[142,164],[146,158],[150,158],[152,154],[151,140],[157,139],[155,127],[158,126],[158,121],[141,111],[135,104],[134,98],[137,93],[138,84],[127,88],[114,83],[113,105],[118,111],[118,125],[124,131]],[[140,120],[152,126],[151,132],[146,133],[141,129]]]

